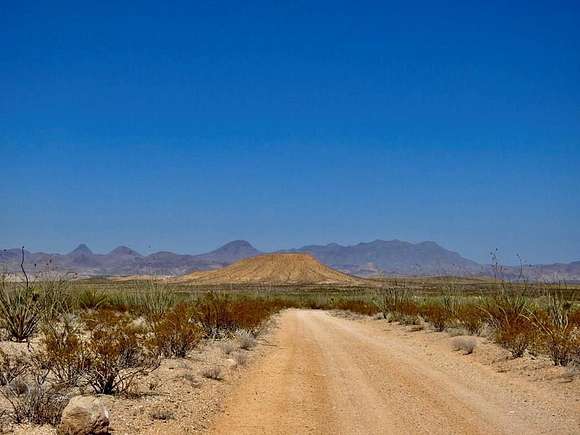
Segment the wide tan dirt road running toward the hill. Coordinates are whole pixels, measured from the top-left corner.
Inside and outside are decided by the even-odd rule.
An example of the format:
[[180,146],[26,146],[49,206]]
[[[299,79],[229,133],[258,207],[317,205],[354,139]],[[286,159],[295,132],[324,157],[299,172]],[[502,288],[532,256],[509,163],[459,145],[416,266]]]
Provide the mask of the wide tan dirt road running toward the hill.
[[578,400],[545,397],[448,349],[429,352],[384,324],[283,313],[276,347],[250,368],[212,433],[580,433]]

